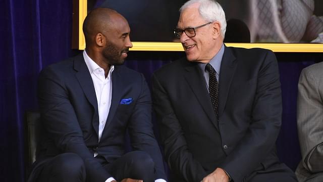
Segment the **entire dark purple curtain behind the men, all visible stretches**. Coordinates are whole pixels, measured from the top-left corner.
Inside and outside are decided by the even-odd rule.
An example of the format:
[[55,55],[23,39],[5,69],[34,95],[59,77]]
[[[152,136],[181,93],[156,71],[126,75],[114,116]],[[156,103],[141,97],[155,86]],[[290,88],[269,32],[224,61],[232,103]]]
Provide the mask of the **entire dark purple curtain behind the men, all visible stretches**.
[[[71,50],[72,1],[0,0],[0,5],[0,180],[24,181],[24,113],[38,109],[38,73],[80,51]],[[283,92],[283,124],[277,146],[281,160],[294,170],[300,160],[296,129],[298,77],[302,68],[323,60],[323,56],[276,55]],[[155,69],[182,56],[183,52],[130,52],[126,65],[143,72],[150,83]]]

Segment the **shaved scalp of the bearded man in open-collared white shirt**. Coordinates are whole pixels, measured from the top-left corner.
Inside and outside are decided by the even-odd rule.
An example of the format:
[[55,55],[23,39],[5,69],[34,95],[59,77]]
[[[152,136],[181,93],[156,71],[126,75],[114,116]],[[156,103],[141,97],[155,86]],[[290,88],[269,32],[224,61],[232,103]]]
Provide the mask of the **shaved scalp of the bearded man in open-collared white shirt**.
[[[87,45],[93,43],[93,38],[97,33],[111,30],[118,21],[127,20],[117,11],[110,8],[96,8],[85,18],[83,23],[83,33]],[[127,22],[128,23],[128,22]]]

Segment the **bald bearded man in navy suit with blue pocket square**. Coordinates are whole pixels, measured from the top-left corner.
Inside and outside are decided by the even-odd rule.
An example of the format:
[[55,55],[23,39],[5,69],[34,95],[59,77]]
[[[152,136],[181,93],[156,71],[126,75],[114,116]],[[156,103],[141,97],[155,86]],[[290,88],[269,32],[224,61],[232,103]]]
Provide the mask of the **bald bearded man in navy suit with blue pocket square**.
[[[98,8],[83,32],[83,54],[40,73],[42,135],[29,181],[165,181],[149,89],[122,66],[132,47],[127,20]],[[125,154],[126,130],[134,151]]]

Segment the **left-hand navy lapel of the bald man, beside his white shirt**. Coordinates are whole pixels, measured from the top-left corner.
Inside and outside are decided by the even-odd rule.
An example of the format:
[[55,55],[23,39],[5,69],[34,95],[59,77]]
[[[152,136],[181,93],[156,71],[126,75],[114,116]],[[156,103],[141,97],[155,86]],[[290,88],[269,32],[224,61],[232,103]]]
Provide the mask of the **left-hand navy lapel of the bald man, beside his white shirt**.
[[98,116],[98,108],[97,108],[97,99],[95,95],[93,81],[92,81],[90,72],[85,64],[82,54],[79,54],[74,59],[74,69],[77,71],[76,78],[79,81],[87,100],[94,108],[92,125],[96,134],[98,135],[99,116]]

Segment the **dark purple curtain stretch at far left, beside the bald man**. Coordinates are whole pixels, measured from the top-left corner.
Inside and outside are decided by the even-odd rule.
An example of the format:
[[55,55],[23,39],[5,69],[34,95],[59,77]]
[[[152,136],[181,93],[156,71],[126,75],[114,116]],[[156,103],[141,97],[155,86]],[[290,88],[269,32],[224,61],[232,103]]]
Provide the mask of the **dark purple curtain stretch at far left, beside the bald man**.
[[72,1],[0,0],[1,181],[24,181],[24,112],[39,71],[73,55],[71,25]]

